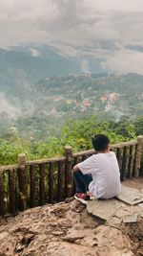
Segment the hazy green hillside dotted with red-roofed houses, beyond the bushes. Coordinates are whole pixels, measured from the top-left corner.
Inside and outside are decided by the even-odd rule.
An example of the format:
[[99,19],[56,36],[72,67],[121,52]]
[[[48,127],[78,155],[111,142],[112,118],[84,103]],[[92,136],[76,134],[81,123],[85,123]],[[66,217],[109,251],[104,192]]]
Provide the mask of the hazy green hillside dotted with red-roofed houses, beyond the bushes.
[[[20,80],[21,81],[21,80]],[[0,134],[18,130],[27,137],[59,132],[69,118],[132,120],[143,113],[143,76],[107,73],[47,77],[2,86]],[[58,124],[58,127],[57,127]]]

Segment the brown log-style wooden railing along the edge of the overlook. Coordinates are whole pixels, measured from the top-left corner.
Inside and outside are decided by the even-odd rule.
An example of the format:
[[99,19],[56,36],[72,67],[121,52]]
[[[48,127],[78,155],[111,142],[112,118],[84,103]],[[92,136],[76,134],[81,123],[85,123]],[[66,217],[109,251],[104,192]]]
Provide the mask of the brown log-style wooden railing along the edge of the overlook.
[[[143,175],[142,147],[143,136],[111,146],[118,159],[121,180]],[[72,197],[72,166],[93,153],[72,153],[72,148],[66,147],[65,156],[33,161],[27,161],[26,154],[20,153],[16,165],[0,167],[0,216]]]

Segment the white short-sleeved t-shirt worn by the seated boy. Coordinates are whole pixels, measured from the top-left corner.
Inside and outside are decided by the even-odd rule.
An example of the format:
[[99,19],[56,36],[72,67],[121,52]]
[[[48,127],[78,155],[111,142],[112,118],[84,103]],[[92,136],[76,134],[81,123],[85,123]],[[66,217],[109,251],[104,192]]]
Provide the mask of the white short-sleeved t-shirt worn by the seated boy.
[[78,167],[83,175],[92,175],[89,190],[96,198],[114,198],[119,194],[120,173],[113,151],[93,154]]

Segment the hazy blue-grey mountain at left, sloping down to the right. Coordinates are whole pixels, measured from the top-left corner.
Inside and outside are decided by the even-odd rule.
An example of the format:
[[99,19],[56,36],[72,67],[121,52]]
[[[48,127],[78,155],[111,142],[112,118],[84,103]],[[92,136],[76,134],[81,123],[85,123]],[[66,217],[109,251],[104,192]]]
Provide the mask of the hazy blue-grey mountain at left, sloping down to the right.
[[80,73],[74,58],[66,58],[50,47],[11,47],[0,49],[0,86],[17,80],[37,81],[48,76]]

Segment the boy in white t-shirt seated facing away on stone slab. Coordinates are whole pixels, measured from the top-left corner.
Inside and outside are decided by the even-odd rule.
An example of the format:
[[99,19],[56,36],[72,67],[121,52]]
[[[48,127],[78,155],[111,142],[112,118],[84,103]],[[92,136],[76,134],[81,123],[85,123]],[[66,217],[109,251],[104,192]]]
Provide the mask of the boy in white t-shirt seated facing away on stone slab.
[[96,151],[91,157],[73,167],[76,185],[74,198],[86,203],[90,195],[95,198],[114,198],[120,190],[120,173],[113,151],[110,151],[109,138],[98,134],[92,139]]

